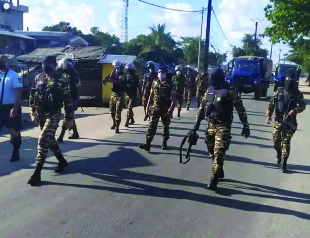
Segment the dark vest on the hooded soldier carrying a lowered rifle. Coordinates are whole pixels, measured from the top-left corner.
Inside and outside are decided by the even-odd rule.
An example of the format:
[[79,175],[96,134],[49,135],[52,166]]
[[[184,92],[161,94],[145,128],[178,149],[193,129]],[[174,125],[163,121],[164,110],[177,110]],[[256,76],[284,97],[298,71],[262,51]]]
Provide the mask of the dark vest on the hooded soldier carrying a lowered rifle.
[[207,90],[206,102],[206,118],[220,123],[232,123],[233,121],[233,102],[229,100],[228,88],[216,90],[214,87],[209,87]]

